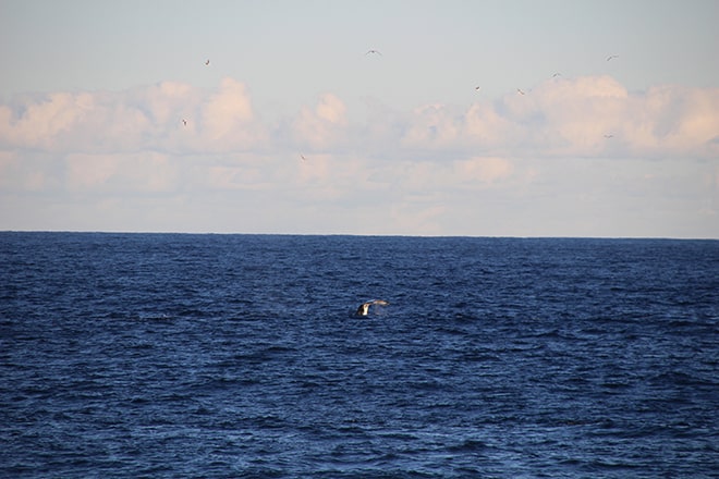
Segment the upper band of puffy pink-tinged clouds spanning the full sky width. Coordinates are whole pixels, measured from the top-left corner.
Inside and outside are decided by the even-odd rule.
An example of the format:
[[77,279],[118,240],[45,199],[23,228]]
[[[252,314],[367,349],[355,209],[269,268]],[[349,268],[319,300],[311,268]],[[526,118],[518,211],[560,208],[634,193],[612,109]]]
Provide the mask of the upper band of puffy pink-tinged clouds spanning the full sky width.
[[[186,122],[186,125],[183,123]],[[350,124],[331,93],[288,121],[263,121],[246,86],[162,82],[122,91],[52,93],[0,105],[0,149],[186,155],[271,149],[451,151],[464,158],[667,157],[719,153],[719,89],[656,86],[630,93],[609,76],[558,77],[526,95],[468,108],[427,105],[392,121]],[[289,128],[272,125],[289,124]],[[360,136],[357,136],[360,135]]]

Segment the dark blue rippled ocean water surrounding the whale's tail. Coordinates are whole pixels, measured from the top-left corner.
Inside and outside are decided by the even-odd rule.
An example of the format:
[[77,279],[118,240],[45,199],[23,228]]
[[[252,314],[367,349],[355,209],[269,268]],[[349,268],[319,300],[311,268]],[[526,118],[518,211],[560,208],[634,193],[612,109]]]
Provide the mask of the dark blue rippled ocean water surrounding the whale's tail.
[[5,232],[0,380],[1,477],[717,477],[719,242]]

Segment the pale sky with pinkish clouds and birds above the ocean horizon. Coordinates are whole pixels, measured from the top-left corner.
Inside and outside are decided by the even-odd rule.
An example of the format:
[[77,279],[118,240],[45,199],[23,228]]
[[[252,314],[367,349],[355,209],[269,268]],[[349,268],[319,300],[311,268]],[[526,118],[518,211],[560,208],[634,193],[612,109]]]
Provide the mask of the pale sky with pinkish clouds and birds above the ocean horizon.
[[718,22],[0,0],[0,231],[719,238]]

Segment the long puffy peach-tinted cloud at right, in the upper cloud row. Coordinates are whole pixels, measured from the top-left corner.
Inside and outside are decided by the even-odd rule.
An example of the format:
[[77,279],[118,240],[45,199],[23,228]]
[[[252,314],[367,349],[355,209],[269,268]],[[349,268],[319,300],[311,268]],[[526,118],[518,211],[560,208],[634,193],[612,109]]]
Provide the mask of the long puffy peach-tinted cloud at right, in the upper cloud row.
[[492,103],[429,105],[411,115],[401,142],[536,157],[716,158],[719,89],[680,86],[630,93],[609,76],[552,78]]

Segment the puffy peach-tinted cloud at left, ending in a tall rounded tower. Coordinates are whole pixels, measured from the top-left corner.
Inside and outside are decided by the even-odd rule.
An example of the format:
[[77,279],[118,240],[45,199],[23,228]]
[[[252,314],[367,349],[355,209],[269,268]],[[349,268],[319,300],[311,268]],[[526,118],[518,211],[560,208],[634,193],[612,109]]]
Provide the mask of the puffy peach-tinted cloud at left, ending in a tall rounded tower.
[[227,152],[257,147],[267,138],[244,84],[232,78],[214,91],[162,82],[123,91],[26,96],[0,106],[4,149]]

